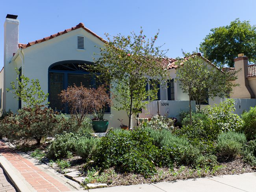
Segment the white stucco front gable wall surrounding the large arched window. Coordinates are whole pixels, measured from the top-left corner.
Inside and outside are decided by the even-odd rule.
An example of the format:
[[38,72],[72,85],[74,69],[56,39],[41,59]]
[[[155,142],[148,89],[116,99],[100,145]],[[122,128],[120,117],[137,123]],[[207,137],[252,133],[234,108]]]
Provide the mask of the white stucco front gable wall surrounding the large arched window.
[[[85,37],[84,50],[77,49],[77,36]],[[103,42],[80,28],[25,49],[19,49],[12,62],[9,63],[12,70],[9,70],[6,75],[11,78],[6,83],[10,87],[11,81],[16,82],[17,76],[14,69],[22,67],[22,74],[30,79],[39,79],[41,89],[46,93],[48,92],[48,68],[50,65],[65,60],[93,62],[93,56],[96,57],[93,53],[99,53],[99,49],[95,45],[100,47]],[[24,58],[21,52],[24,54]],[[13,98],[11,92],[7,93],[6,106],[14,112],[18,109],[18,101]],[[111,108],[111,114],[105,114],[104,118],[109,120],[109,127],[119,127],[118,118],[124,119],[123,123],[128,125],[128,116],[124,111],[116,111]],[[132,123],[136,124],[135,119],[132,120]]]

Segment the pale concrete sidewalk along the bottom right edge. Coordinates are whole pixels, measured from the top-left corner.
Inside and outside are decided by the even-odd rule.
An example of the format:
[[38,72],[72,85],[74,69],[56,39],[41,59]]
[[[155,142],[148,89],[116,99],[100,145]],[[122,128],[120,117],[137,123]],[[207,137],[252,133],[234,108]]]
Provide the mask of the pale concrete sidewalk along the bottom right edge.
[[256,172],[143,185],[90,189],[89,192],[256,192]]

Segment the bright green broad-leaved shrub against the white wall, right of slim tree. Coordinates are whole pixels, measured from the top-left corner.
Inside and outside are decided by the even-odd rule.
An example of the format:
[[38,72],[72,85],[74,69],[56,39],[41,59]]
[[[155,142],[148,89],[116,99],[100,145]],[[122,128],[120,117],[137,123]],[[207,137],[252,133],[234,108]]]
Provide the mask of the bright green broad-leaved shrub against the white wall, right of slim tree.
[[203,109],[203,112],[210,118],[211,129],[215,132],[225,132],[232,130],[241,130],[243,120],[233,114],[235,109],[235,101],[228,99],[214,106],[209,106]]

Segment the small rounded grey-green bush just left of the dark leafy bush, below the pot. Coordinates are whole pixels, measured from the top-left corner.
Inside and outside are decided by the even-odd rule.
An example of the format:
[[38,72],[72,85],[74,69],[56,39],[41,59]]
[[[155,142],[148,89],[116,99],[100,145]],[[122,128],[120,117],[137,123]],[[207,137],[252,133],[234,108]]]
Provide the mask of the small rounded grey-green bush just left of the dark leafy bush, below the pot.
[[78,154],[83,159],[91,158],[98,150],[98,145],[100,139],[98,138],[79,138],[76,142],[76,154]]

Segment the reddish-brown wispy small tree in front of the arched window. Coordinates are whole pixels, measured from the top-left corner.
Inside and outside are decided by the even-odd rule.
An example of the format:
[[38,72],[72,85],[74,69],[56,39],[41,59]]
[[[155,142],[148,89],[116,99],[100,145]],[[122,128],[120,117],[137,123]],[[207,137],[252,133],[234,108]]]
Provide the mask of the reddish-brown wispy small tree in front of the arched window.
[[67,90],[61,91],[59,96],[62,103],[69,105],[70,114],[76,117],[79,125],[89,113],[101,114],[103,118],[105,106],[111,104],[111,99],[104,85],[99,86],[97,89],[86,88],[82,84],[80,87],[74,85],[73,87],[68,87]]

